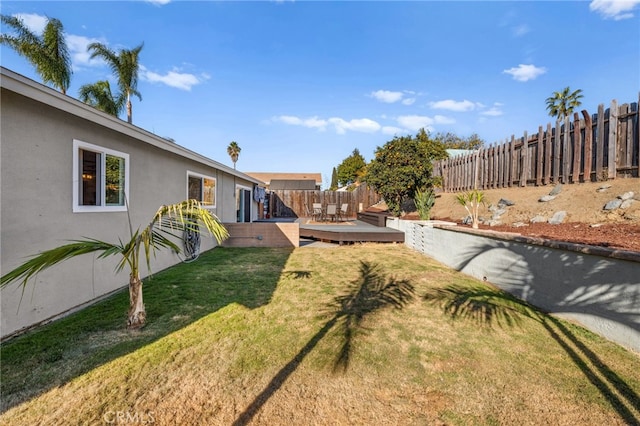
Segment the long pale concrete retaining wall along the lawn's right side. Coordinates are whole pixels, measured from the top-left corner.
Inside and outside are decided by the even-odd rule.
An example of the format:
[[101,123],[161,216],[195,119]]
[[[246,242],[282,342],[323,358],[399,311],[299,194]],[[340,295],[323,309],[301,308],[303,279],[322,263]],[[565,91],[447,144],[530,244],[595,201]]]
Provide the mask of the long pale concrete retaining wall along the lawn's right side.
[[390,218],[405,244],[640,352],[640,254]]

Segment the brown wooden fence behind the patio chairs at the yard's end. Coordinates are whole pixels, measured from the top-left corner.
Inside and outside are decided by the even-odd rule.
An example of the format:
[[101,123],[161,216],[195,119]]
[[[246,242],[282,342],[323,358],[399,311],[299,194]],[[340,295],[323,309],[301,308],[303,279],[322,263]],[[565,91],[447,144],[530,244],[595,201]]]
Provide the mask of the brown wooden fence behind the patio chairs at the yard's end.
[[368,185],[360,185],[354,191],[303,191],[272,190],[269,191],[269,215],[275,217],[309,217],[313,203],[326,205],[329,203],[349,204],[348,215],[356,214],[381,200]]

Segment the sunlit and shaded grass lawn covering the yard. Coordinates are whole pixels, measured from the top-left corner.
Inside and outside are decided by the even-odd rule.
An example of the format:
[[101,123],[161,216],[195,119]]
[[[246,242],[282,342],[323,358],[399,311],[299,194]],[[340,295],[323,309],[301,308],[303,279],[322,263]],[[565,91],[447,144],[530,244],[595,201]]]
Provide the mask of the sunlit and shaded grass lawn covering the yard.
[[[37,291],[37,289],[36,289]],[[640,358],[402,245],[216,248],[1,347],[1,424],[640,424]]]

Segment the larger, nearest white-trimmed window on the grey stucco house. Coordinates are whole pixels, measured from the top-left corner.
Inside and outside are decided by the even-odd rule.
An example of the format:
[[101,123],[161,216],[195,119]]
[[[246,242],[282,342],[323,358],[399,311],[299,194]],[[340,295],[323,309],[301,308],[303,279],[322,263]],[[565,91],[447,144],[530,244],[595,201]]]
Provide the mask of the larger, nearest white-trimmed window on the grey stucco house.
[[126,211],[129,154],[73,141],[73,211]]

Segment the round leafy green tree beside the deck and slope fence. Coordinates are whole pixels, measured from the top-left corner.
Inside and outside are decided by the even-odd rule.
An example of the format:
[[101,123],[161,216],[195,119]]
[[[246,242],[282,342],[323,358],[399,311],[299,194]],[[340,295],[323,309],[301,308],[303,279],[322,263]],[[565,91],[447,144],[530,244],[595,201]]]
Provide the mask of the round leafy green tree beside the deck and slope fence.
[[366,182],[383,197],[389,211],[400,216],[405,199],[415,199],[417,191],[433,188],[433,161],[443,158],[447,158],[444,145],[424,129],[416,137],[396,136],[376,149]]

